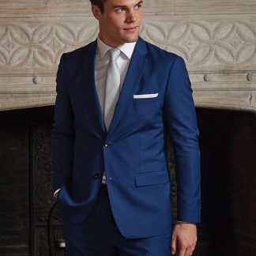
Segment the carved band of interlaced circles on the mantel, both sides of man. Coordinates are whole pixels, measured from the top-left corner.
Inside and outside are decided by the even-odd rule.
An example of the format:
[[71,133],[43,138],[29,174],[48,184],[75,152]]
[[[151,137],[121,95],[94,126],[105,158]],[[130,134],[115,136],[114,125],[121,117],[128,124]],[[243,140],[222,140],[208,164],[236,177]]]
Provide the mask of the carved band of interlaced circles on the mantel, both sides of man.
[[[182,55],[190,65],[222,70],[256,66],[256,22],[186,21],[150,22],[141,27],[145,40]],[[0,67],[51,68],[60,55],[84,46],[96,38],[95,22],[6,24],[0,26]]]

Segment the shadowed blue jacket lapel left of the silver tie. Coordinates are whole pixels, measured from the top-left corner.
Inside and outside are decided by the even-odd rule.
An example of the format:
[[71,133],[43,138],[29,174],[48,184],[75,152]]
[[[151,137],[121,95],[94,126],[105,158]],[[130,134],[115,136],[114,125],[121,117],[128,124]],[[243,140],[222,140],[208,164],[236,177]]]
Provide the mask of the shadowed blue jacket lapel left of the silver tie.
[[106,132],[104,116],[100,107],[100,100],[95,84],[95,56],[96,56],[96,41],[88,45],[87,55],[84,56],[85,77],[88,81],[88,107],[92,107],[95,112],[96,119],[100,123],[101,129]]

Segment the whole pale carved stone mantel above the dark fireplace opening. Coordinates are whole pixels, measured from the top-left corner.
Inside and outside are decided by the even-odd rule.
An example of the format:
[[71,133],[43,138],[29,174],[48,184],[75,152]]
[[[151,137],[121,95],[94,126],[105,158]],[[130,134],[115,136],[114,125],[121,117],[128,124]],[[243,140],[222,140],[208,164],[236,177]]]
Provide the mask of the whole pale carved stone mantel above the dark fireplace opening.
[[[256,2],[145,0],[141,37],[181,55],[198,107],[256,112]],[[0,2],[0,110],[55,104],[63,52],[96,39],[89,1]]]

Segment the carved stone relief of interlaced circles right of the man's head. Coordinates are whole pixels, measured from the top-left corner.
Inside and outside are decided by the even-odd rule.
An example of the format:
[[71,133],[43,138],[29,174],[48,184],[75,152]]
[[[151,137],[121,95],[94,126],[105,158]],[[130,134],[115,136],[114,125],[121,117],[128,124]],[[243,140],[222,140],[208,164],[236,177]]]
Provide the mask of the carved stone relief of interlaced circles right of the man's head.
[[244,21],[186,21],[145,24],[145,39],[182,55],[195,66],[256,64],[255,24]]

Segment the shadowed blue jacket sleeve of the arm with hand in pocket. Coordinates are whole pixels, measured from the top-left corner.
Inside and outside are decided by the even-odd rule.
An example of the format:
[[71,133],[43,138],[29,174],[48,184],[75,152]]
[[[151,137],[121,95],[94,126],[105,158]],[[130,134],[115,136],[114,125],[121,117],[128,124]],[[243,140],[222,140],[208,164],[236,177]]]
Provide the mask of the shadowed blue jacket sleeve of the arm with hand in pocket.
[[55,122],[51,131],[52,190],[55,191],[68,179],[73,169],[73,110],[65,83],[64,57],[57,72]]

